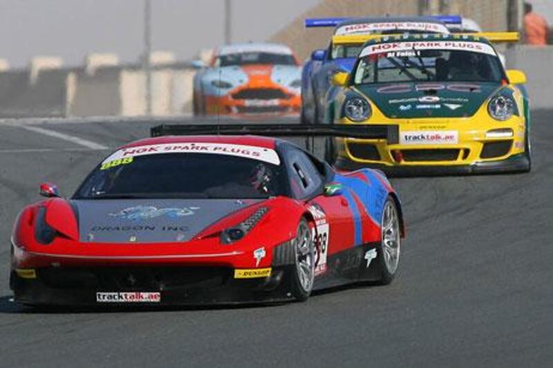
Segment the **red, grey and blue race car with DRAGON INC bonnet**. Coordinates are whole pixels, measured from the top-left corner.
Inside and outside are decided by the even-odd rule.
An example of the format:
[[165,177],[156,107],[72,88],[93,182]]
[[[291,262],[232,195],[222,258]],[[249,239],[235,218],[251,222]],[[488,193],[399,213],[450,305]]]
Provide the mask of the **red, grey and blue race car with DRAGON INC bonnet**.
[[[160,137],[113,152],[71,199],[43,184],[48,199],[15,222],[15,302],[281,302],[357,280],[393,280],[404,220],[382,173],[337,173],[289,142],[224,136],[223,128],[154,128]],[[221,135],[176,136],[194,131]]]

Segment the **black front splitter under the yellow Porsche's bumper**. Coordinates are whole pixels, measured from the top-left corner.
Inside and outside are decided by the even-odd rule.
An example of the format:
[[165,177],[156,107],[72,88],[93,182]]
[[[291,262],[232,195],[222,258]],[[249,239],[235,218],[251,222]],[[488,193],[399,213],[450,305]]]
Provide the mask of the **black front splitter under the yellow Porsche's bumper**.
[[390,177],[434,176],[434,175],[470,175],[493,173],[524,173],[529,171],[530,162],[525,154],[513,155],[498,161],[474,162],[468,165],[424,165],[424,166],[388,166],[383,164],[363,164],[346,157],[338,157],[335,166],[340,170],[353,171],[359,168],[378,168]]

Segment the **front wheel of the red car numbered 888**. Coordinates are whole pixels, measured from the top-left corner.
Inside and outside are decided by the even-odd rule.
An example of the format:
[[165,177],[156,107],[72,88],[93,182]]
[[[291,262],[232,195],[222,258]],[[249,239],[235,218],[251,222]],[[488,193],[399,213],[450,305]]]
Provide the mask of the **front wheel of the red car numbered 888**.
[[309,298],[315,280],[315,244],[306,219],[299,222],[294,246],[294,275],[292,275],[292,296],[299,302]]

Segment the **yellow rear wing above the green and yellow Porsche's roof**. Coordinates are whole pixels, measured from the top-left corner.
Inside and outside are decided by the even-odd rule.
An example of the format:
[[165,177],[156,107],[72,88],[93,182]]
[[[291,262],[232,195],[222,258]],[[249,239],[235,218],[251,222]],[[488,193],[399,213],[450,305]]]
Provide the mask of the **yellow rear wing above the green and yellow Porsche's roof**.
[[[402,37],[403,35],[338,35],[332,37],[333,45],[344,45],[344,44],[363,44],[367,41],[373,39],[382,39],[386,37]],[[418,36],[418,35],[415,35]],[[478,33],[454,33],[451,35],[445,35],[447,38],[453,41],[458,41],[463,38],[467,39],[468,36],[474,37],[476,39],[483,38],[487,39],[492,43],[506,43],[506,42],[518,42],[520,36],[518,32],[478,32]],[[421,39],[424,39],[422,36]],[[433,40],[435,41],[435,40]]]

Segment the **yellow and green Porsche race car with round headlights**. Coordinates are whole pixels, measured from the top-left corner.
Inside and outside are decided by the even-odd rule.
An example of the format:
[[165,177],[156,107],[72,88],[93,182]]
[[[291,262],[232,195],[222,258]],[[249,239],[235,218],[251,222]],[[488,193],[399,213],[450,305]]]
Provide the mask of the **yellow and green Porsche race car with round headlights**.
[[328,139],[326,158],[391,175],[529,171],[526,77],[504,70],[489,41],[518,35],[486,35],[369,37],[333,77],[326,121],[396,125],[397,137]]

